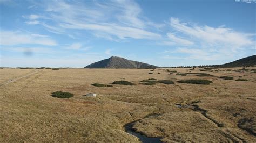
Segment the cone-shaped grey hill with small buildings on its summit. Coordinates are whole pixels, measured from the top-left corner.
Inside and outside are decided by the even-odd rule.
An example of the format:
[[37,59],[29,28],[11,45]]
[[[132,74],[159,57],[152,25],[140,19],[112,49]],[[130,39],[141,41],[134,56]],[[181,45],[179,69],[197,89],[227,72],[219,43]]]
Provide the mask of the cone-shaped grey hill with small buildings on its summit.
[[109,59],[101,60],[84,68],[159,68],[143,62],[131,61],[118,56],[111,56]]

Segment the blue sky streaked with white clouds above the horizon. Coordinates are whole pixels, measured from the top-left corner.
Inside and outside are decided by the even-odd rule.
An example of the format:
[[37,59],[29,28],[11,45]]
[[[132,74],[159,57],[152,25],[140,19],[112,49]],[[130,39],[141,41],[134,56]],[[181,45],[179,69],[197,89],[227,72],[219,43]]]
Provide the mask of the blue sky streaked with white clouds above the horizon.
[[256,54],[255,21],[256,1],[0,0],[0,67],[223,64]]

